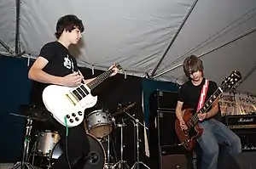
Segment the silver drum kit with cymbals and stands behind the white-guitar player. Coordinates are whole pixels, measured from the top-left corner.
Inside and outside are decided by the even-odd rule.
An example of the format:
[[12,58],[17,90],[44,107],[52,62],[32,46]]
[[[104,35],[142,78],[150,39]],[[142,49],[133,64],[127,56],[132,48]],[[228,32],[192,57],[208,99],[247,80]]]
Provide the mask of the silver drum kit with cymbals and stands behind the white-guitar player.
[[[140,161],[139,159],[139,143],[141,141],[138,138],[138,127],[139,125],[143,126],[143,124],[136,118],[134,118],[133,115],[127,113],[127,111],[130,110],[135,104],[136,103],[128,104],[124,108],[117,110],[113,115],[110,115],[108,110],[104,109],[93,110],[85,115],[83,125],[86,136],[89,140],[90,152],[87,155],[88,161],[86,161],[84,169],[135,169],[139,168],[140,164],[149,169],[149,167],[146,166],[143,161]],[[13,113],[10,113],[10,115],[17,115],[26,119],[26,132],[23,143],[23,154],[21,161],[17,162],[10,169],[51,168],[55,160],[58,159],[59,156],[63,153],[63,150],[61,149],[61,144],[59,143],[59,140],[61,139],[60,135],[58,134],[58,132],[51,130],[37,131],[34,135],[32,134],[32,122],[47,121],[47,115],[49,114],[49,112],[45,110],[38,110],[32,105],[20,105],[20,111],[22,115]],[[129,118],[133,119],[132,122],[134,124],[134,127],[136,127],[137,136],[135,139],[137,143],[137,161],[132,167],[128,166],[127,161],[124,161],[123,158],[125,147],[123,144],[123,128],[126,126],[124,119],[122,118],[122,121],[120,123],[116,123],[114,118],[116,115],[121,114],[129,115]],[[119,161],[117,161],[113,140],[111,138],[111,133],[117,128],[120,129]],[[145,128],[148,129],[147,127]],[[35,141],[31,147],[30,142],[32,138],[35,138]],[[111,148],[113,149],[114,155],[111,155],[110,153]],[[30,153],[29,149],[32,149]],[[38,157],[41,158],[40,166],[36,166],[38,164],[34,164],[35,158],[37,159]],[[44,164],[42,161],[44,161]]]

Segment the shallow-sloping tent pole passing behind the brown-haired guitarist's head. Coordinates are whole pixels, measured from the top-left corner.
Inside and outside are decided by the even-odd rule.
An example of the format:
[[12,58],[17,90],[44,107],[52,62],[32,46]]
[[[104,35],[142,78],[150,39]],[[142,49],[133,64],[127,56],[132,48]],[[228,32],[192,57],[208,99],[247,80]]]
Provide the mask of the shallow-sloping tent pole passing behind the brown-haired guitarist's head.
[[[212,48],[211,50],[207,51],[206,53],[199,55],[198,58],[200,58],[200,57],[202,57],[202,56],[204,56],[204,55],[206,55],[206,54],[210,54],[210,53],[212,53],[213,51],[217,50],[218,48],[222,48],[222,47],[224,47],[224,46],[230,44],[231,42],[235,42],[236,40],[241,39],[242,37],[246,37],[247,35],[253,33],[254,31],[256,31],[256,27],[253,28],[253,30],[251,30],[251,31],[247,31],[246,33],[242,34],[241,36],[236,37],[235,39],[231,40],[230,42],[225,42],[224,44],[218,46],[217,48]],[[158,77],[158,76],[162,76],[162,75],[166,74],[167,72],[169,72],[169,71],[171,71],[171,70],[175,70],[175,69],[177,69],[178,67],[180,67],[180,66],[182,66],[182,65],[183,65],[183,64],[176,65],[176,66],[174,66],[174,67],[172,67],[172,68],[170,68],[170,69],[168,69],[168,70],[165,70],[165,71],[161,72],[160,74],[158,74],[158,75],[156,75],[156,76],[153,76],[152,78],[154,79],[154,78],[156,78],[156,77]]]

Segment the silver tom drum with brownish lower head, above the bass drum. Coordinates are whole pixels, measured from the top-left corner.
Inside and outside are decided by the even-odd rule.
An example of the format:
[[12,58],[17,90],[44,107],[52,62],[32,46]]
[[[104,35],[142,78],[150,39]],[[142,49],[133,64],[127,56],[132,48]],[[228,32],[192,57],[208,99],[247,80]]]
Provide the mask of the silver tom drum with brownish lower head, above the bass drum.
[[96,138],[104,138],[112,132],[112,120],[107,110],[94,110],[84,120],[86,132]]

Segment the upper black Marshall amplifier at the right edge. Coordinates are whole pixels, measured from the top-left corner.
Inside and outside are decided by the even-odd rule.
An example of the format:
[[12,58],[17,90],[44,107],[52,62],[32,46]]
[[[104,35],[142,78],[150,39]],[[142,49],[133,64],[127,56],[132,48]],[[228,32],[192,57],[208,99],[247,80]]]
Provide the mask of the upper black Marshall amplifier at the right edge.
[[224,123],[230,129],[256,129],[256,115],[225,115]]

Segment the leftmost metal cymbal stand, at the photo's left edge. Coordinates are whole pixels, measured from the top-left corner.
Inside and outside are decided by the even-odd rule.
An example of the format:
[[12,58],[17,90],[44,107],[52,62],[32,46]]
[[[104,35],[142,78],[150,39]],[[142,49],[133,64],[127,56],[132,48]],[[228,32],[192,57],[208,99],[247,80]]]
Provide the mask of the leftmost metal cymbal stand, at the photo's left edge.
[[[15,115],[15,114],[13,114]],[[19,115],[19,116],[23,116],[23,115]],[[22,160],[18,161],[15,166],[10,167],[9,169],[16,169],[19,168],[20,169],[34,169],[34,167],[32,166],[32,164],[30,164],[29,162],[27,162],[27,157],[28,157],[28,149],[29,149],[29,144],[30,144],[30,140],[31,140],[31,130],[32,130],[32,118],[29,116],[26,116],[26,135],[24,138],[24,147],[23,147],[23,155],[22,155]]]

